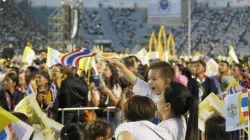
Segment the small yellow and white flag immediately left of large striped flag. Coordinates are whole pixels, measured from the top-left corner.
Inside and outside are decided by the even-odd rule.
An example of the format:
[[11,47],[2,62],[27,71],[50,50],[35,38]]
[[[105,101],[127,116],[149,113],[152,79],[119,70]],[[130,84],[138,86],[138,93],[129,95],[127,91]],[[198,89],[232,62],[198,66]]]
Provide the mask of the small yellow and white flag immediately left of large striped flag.
[[48,47],[46,66],[51,67],[55,64],[61,64],[60,55],[59,51]]

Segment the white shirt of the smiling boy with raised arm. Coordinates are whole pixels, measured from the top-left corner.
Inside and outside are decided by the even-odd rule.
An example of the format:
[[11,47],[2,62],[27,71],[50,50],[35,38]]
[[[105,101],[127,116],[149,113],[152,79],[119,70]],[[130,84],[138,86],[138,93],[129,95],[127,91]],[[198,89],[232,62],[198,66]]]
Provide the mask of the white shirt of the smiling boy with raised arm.
[[148,83],[141,80],[140,78],[136,79],[136,83],[133,87],[133,92],[136,95],[149,97],[155,104],[157,104],[159,100],[159,95],[153,94]]

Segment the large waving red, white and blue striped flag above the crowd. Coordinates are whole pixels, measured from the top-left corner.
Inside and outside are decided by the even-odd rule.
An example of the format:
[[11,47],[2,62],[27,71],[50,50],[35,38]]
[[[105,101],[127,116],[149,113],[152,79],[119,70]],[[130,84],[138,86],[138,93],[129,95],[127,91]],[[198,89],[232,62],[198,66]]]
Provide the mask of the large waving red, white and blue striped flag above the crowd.
[[64,55],[61,59],[61,62],[64,66],[73,66],[76,67],[81,58],[95,56],[91,50],[79,47],[75,51]]

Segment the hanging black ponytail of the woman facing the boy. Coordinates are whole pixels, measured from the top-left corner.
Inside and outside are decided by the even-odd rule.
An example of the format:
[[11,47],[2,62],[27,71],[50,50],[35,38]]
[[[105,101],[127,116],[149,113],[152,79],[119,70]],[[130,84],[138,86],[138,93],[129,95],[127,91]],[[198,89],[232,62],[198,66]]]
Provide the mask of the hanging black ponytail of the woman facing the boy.
[[194,96],[187,98],[189,117],[185,140],[198,140],[198,99]]

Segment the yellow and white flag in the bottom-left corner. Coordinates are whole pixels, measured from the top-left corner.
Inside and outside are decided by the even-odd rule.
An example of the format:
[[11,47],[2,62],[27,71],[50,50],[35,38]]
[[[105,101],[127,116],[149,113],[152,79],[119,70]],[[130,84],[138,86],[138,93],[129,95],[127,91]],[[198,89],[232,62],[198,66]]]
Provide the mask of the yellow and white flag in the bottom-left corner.
[[34,128],[0,107],[0,140],[28,140]]

